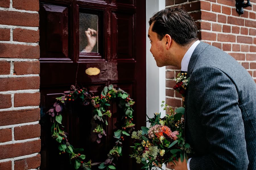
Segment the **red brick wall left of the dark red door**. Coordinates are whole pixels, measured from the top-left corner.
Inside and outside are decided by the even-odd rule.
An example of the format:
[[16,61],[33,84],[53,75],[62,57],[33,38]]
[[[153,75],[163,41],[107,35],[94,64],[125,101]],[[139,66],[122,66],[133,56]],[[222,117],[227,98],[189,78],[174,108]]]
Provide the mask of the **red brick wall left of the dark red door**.
[[40,166],[39,1],[0,0],[0,169]]

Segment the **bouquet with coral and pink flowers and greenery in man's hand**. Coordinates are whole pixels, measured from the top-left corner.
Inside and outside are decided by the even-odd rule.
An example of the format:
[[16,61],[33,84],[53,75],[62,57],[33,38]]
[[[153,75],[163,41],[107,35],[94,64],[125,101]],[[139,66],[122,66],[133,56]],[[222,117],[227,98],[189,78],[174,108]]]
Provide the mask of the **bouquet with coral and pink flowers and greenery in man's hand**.
[[[152,167],[162,167],[162,164],[174,162],[173,160],[187,161],[187,154],[191,153],[191,147],[185,142],[184,127],[181,122],[181,116],[184,113],[184,107],[175,110],[164,105],[161,107],[167,111],[164,118],[160,118],[161,113],[155,113],[154,118],[148,118],[150,128],[141,127],[140,131],[134,131],[132,138],[135,139],[130,146],[133,148],[131,158],[135,158],[137,163],[143,163],[145,170]],[[148,162],[146,161],[148,160]],[[162,169],[162,168],[161,168]]]

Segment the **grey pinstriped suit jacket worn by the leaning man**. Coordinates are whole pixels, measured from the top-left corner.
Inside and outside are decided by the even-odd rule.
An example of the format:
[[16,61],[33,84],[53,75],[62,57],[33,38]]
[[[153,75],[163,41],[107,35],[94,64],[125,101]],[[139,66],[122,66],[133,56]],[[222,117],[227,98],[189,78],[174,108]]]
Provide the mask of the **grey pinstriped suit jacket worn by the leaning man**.
[[227,53],[200,42],[188,65],[190,169],[256,169],[256,84]]

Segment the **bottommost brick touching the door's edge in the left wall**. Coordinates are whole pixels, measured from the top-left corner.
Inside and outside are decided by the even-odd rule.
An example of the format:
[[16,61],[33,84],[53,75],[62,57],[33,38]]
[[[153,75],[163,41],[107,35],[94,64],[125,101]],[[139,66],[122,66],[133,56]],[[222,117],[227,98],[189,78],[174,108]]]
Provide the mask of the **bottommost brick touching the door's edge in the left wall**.
[[27,169],[36,169],[40,166],[41,155],[38,154],[34,157],[25,158],[22,160],[16,160],[14,162],[15,170],[27,170]]

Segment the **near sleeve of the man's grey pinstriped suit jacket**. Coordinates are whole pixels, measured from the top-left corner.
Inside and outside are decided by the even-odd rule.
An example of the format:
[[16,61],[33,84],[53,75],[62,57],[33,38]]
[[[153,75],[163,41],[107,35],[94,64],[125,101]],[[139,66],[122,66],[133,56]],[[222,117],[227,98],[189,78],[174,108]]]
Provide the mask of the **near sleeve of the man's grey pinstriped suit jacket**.
[[[209,152],[192,157],[190,170],[247,169],[244,124],[238,107],[238,92],[232,80],[216,67],[201,67],[191,74],[189,100],[205,131]],[[196,133],[196,132],[195,132]]]

